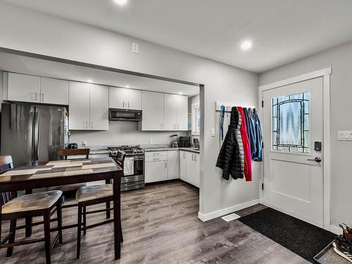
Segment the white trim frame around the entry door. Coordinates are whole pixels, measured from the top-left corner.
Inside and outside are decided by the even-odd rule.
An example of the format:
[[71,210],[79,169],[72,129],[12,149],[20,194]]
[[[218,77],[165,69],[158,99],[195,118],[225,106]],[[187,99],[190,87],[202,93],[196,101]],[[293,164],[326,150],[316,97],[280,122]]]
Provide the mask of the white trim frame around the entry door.
[[[331,144],[330,144],[330,75],[332,73],[332,67],[324,68],[322,70],[315,70],[311,73],[306,73],[303,75],[298,75],[291,77],[286,80],[280,80],[278,82],[272,82],[270,84],[265,84],[260,87],[258,94],[258,106],[263,106],[263,92],[275,89],[278,87],[286,86],[289,84],[294,84],[296,82],[303,82],[306,80],[314,79],[317,77],[322,77],[323,84],[323,227],[325,230],[333,231],[334,228],[331,226]],[[259,107],[258,115],[260,120],[263,120],[263,107]],[[262,121],[263,122],[263,121]],[[265,143],[264,147],[270,146],[270,144]],[[265,162],[265,157],[263,156],[263,163]],[[262,165],[261,170],[261,183],[264,183],[264,166]],[[263,203],[263,188],[262,184],[259,184],[259,199],[260,203]],[[297,217],[297,215],[294,215]]]

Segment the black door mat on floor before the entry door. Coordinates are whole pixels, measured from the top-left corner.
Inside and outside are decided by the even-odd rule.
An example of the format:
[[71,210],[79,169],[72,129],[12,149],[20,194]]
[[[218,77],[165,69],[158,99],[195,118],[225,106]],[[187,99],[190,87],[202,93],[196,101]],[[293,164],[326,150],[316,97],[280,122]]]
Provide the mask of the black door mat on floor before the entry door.
[[239,221],[311,263],[315,263],[314,256],[337,237],[332,232],[272,208],[246,215]]

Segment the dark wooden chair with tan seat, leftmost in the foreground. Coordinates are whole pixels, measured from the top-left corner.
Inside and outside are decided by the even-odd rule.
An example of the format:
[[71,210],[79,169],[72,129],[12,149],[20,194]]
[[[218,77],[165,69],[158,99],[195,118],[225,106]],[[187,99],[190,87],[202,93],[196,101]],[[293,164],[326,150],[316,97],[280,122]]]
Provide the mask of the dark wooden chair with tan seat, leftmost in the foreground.
[[[0,156],[0,173],[13,168],[11,156]],[[62,213],[61,213],[62,191],[43,191],[36,194],[26,194],[17,197],[16,191],[5,192],[0,195],[0,249],[7,248],[6,258],[10,258],[14,246],[45,242],[46,263],[51,263],[51,249],[56,242],[62,244]],[[58,234],[51,244],[50,218],[57,213]],[[44,238],[27,239],[15,241],[16,223],[19,218],[43,216]],[[1,240],[1,221],[10,220],[10,232]],[[8,243],[6,244],[6,242]]]

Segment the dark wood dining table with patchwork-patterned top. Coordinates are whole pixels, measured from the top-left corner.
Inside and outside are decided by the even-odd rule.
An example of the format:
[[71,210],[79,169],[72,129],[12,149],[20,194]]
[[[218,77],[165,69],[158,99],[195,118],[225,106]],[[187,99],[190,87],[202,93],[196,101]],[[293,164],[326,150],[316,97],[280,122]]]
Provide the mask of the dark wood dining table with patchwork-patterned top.
[[[31,193],[33,189],[59,185],[113,180],[113,227],[115,260],[120,259],[122,238],[120,218],[120,184],[122,168],[113,158],[79,158],[75,160],[43,161],[37,165],[22,165],[0,175],[0,193],[17,191]],[[31,234],[32,222],[26,220],[26,233]],[[77,225],[76,225],[77,226]]]

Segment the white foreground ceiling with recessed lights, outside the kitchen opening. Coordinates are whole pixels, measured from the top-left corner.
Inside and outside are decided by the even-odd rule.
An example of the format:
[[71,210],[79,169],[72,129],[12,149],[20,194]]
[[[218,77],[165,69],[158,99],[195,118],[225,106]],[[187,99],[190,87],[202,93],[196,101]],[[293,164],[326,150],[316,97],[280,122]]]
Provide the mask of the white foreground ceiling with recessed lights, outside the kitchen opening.
[[352,39],[351,0],[5,1],[256,73]]

